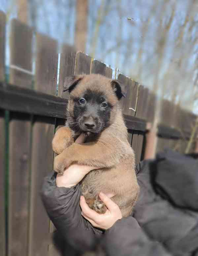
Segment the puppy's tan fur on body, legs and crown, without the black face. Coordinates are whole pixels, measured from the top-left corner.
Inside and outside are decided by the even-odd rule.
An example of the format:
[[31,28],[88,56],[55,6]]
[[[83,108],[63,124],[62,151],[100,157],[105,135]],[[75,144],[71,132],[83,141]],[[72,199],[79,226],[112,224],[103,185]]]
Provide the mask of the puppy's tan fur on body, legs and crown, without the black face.
[[99,192],[113,193],[115,196],[112,200],[120,207],[122,216],[126,217],[131,214],[135,205],[139,186],[135,174],[134,152],[127,140],[127,128],[111,80],[96,74],[84,76],[79,85],[70,93],[67,110],[72,112],[74,109],[72,97],[80,98],[88,88],[104,92],[112,104],[110,125],[95,141],[72,145],[69,143],[67,147],[65,145],[68,141],[71,142],[68,138],[72,136],[72,131],[69,131],[68,127],[58,130],[53,139],[53,150],[58,153],[63,148],[64,150],[55,157],[54,170],[61,173],[64,168],[73,163],[98,167],[99,169],[91,171],[82,180],[82,193],[86,201],[90,208],[101,213],[104,212],[105,206],[101,210],[97,209],[101,206],[101,201],[97,198]]

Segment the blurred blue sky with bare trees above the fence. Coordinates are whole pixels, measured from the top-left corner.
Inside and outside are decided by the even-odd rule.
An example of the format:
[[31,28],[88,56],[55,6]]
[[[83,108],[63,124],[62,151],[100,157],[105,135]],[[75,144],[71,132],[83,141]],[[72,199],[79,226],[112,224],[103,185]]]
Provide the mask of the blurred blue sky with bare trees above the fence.
[[[16,18],[15,1],[0,0],[0,10],[7,13],[7,39],[10,21]],[[75,0],[30,2],[30,25],[34,25],[38,32],[55,38],[59,47],[64,42],[74,43]],[[192,44],[198,35],[198,2],[193,8],[190,6],[191,0],[164,3],[163,0],[89,0],[86,53],[94,53],[92,57],[95,59],[117,67],[121,73],[151,90],[157,81],[158,94],[164,93],[167,99],[171,99],[176,90],[176,99],[182,106],[198,113],[198,101],[193,100],[198,91],[193,84],[198,67],[198,43]],[[173,6],[174,18],[166,31]],[[35,21],[32,19],[33,7],[36,7],[37,13]],[[96,34],[99,10],[101,22]],[[189,21],[185,24],[179,43],[178,36],[186,17]],[[97,43],[93,50],[94,36]],[[164,44],[163,50],[159,49],[160,43]],[[8,40],[6,45],[6,64],[9,65]]]

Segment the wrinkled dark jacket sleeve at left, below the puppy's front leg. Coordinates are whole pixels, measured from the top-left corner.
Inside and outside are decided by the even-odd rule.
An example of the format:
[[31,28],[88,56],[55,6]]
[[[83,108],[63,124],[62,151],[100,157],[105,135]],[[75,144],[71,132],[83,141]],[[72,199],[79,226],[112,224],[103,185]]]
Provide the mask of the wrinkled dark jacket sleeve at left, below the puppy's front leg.
[[57,187],[55,180],[56,173],[47,176],[41,191],[50,220],[72,247],[79,251],[92,249],[103,232],[82,217],[80,186]]

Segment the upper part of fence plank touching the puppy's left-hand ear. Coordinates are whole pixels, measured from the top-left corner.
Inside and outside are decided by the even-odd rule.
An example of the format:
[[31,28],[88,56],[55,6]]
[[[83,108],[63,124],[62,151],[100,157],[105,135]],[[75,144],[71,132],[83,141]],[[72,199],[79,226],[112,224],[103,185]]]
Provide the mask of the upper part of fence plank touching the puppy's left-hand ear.
[[74,75],[76,62],[75,50],[68,46],[63,45],[62,53],[60,54],[60,71],[59,71],[59,82],[58,82],[58,96],[68,99],[69,93],[63,93],[63,84],[65,77]]

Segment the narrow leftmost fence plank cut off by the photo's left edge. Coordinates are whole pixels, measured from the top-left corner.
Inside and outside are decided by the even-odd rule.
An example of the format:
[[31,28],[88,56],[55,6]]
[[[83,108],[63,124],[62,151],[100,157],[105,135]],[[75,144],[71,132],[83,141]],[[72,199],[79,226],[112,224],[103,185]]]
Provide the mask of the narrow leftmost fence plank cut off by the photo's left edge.
[[[5,80],[5,24],[6,15],[0,11],[0,81]],[[5,239],[5,128],[4,111],[0,110],[0,251],[2,256],[6,252]]]

